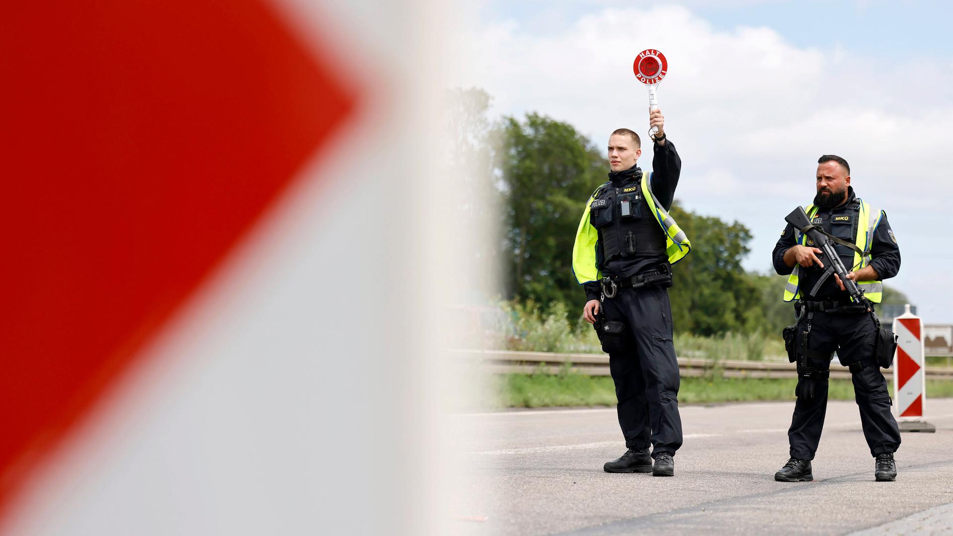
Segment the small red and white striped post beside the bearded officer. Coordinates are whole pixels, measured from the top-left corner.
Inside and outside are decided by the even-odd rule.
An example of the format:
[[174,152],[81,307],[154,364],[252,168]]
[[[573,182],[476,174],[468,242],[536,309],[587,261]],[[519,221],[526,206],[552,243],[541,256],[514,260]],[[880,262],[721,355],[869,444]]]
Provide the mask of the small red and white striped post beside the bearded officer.
[[923,353],[923,320],[910,312],[907,303],[903,314],[893,323],[897,335],[894,356],[894,398],[902,432],[934,432],[933,424],[923,422],[926,405],[926,371]]

